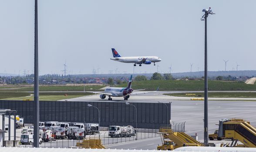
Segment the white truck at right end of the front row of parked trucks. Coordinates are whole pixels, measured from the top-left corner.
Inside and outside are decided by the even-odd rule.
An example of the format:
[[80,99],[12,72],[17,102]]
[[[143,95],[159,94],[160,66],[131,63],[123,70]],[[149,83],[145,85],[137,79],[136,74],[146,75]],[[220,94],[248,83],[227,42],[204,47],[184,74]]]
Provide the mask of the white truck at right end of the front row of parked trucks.
[[67,127],[67,138],[68,139],[83,139],[84,138],[84,129],[79,127]]

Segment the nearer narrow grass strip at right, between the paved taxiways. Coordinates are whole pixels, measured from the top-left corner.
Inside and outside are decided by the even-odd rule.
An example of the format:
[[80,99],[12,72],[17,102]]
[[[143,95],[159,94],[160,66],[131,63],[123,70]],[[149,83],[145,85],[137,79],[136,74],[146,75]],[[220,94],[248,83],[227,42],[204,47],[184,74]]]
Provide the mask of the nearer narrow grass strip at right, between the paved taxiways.
[[[195,94],[195,95],[185,95],[185,94]],[[168,93],[164,94],[168,96],[182,96],[182,97],[204,97],[204,93]],[[256,93],[254,92],[245,92],[245,93],[223,93],[215,92],[208,93],[208,97],[212,98],[256,98]]]

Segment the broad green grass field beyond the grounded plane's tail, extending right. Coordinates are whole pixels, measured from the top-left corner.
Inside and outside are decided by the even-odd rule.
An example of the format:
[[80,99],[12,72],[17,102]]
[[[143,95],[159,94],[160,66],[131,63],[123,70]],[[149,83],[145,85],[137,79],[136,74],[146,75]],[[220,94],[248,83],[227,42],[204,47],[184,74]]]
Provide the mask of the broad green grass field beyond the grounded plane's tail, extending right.
[[[117,87],[126,87],[127,84],[121,84]],[[134,81],[131,84],[132,89],[155,90],[159,86],[160,91],[203,91],[204,80],[146,80]],[[212,91],[239,91],[239,90],[256,90],[256,84],[249,85],[237,81],[217,81],[209,80],[209,90]]]

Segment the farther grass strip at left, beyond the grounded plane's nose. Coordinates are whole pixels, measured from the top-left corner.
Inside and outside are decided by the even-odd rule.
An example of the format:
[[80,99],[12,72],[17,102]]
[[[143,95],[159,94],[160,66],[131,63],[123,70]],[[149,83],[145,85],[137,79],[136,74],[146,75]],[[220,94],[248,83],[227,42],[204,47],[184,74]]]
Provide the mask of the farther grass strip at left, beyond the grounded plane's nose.
[[[104,86],[85,86],[85,90],[96,90],[101,89]],[[0,92],[10,91],[12,88],[12,92],[28,92],[34,91],[34,87],[0,87]],[[39,86],[39,91],[84,91],[84,86]]]

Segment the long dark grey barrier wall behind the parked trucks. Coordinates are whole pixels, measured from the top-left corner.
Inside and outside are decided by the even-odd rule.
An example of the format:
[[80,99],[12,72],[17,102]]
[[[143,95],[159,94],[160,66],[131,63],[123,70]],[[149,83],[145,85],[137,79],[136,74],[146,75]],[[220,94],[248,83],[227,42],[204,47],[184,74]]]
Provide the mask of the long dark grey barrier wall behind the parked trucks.
[[[0,109],[17,110],[17,115],[24,118],[24,123],[33,123],[33,102],[21,100],[0,100]],[[86,122],[98,123],[98,110],[88,107],[88,104],[100,110],[101,126],[136,127],[136,111],[134,106],[125,102],[70,102],[70,101],[40,101],[40,121]],[[167,107],[162,103],[131,102],[138,110],[138,128],[159,129],[167,126],[167,116],[170,119],[170,103]],[[170,123],[170,122],[168,122]]]

